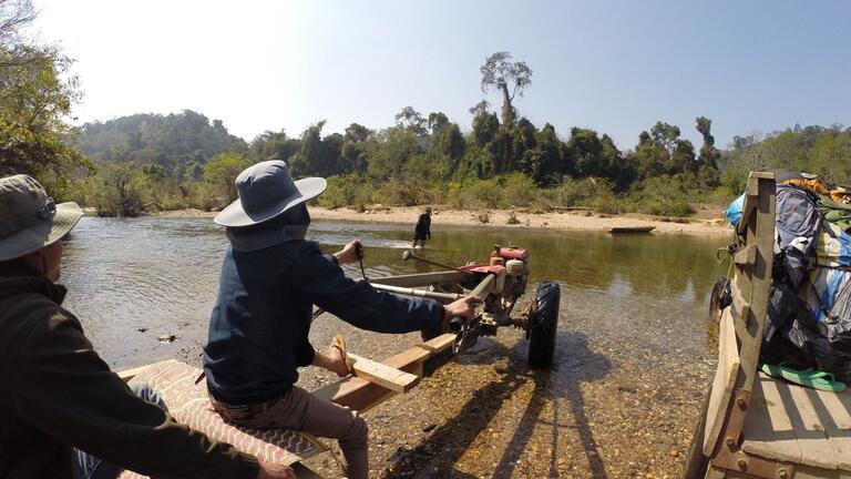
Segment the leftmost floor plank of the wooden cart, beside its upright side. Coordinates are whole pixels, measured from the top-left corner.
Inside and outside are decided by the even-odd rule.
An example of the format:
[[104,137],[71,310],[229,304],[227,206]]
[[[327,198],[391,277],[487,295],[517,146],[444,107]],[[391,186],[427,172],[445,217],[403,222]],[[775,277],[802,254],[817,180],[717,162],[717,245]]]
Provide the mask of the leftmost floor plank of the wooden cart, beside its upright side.
[[801,447],[777,389],[777,381],[766,375],[759,375],[753,381],[741,436],[741,449],[747,453],[801,462]]

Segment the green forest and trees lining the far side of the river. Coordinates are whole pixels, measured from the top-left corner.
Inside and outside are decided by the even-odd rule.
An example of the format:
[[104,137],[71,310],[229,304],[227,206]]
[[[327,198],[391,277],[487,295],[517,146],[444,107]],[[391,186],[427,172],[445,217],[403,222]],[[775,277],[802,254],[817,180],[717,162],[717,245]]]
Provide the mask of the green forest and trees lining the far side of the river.
[[[359,210],[585,206],[688,216],[696,204],[738,195],[751,170],[802,170],[834,182],[851,175],[851,129],[842,125],[736,136],[719,149],[708,118],[658,121],[625,151],[594,130],[535,125],[520,108],[533,71],[509,52],[480,65],[482,93],[500,104],[482,100],[461,122],[404,106],[385,129],[351,123],[335,133],[320,121],[299,134],[267,131],[249,142],[189,110],[72,126],[82,92],[69,74],[71,60],[20,33],[33,18],[29,2],[0,0],[0,175],[31,174],[58,200],[101,215],[217,210],[236,197],[239,171],[271,159],[286,161],[294,177],[327,177],[320,205]],[[690,128],[701,144],[683,137]]]

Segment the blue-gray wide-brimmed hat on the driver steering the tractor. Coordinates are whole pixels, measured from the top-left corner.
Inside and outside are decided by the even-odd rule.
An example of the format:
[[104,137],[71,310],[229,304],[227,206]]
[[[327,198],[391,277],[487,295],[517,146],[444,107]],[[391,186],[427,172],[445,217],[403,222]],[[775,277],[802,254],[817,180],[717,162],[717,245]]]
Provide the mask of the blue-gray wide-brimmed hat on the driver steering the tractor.
[[321,177],[293,181],[287,164],[271,160],[248,166],[236,177],[239,198],[216,215],[216,224],[228,227],[253,226],[275,218],[285,211],[310,201],[325,191]]

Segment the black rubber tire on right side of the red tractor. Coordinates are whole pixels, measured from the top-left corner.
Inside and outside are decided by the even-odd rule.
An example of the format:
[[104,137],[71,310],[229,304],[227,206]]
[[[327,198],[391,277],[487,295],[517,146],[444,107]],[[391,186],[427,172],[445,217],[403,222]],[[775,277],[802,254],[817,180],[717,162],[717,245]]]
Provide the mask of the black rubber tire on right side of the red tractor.
[[562,287],[558,283],[544,282],[537,285],[537,307],[529,325],[529,365],[533,368],[546,369],[553,365],[561,299]]

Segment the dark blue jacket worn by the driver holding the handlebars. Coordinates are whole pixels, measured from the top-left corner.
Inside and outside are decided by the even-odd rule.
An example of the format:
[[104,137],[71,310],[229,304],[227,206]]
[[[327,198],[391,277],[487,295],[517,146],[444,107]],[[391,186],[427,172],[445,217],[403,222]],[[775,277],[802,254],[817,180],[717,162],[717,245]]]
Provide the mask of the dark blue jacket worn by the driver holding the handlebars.
[[314,360],[307,337],[312,305],[379,333],[433,328],[443,318],[435,300],[402,298],[347,278],[312,242],[247,253],[229,248],[204,348],[207,384],[219,400],[262,402],[289,390],[296,368]]

